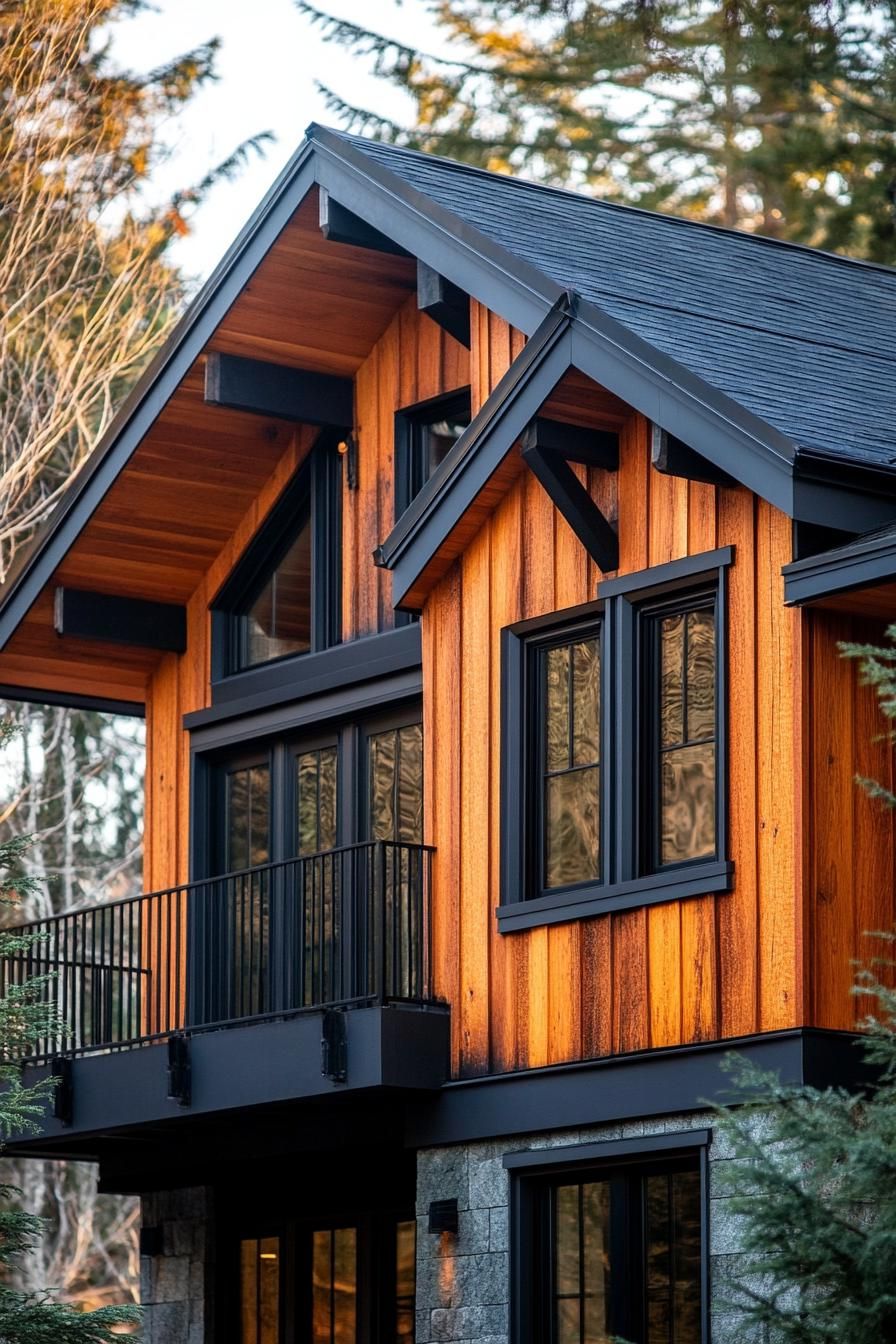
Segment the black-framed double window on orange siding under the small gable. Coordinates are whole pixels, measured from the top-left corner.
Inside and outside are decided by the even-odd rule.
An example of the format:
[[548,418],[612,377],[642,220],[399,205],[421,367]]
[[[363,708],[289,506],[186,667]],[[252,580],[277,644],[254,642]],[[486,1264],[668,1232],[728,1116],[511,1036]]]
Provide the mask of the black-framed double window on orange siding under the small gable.
[[725,890],[731,548],[504,632],[505,931]]

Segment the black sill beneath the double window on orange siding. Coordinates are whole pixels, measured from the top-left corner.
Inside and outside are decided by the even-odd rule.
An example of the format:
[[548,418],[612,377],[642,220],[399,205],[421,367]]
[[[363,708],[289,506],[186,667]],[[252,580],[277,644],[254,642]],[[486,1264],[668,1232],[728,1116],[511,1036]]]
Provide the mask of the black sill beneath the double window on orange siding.
[[682,864],[669,872],[652,872],[646,878],[618,882],[610,887],[584,887],[578,892],[557,891],[532,900],[514,900],[497,907],[500,933],[539,929],[543,925],[568,923],[618,910],[637,910],[656,906],[662,900],[685,900],[688,896],[708,896],[715,891],[729,891],[733,882],[733,863]]

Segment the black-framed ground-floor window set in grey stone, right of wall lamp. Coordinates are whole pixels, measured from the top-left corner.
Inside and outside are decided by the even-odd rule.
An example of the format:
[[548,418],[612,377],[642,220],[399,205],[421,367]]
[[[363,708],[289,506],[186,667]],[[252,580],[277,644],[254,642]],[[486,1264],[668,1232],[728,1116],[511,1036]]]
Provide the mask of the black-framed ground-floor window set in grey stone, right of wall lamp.
[[656,1152],[622,1140],[505,1157],[513,1344],[703,1344],[707,1141],[700,1130],[662,1136]]

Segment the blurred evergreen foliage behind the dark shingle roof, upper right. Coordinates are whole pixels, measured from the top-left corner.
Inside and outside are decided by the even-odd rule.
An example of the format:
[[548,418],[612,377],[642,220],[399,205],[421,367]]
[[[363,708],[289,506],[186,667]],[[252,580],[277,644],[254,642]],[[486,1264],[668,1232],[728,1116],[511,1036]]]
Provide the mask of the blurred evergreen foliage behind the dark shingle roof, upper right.
[[411,95],[349,129],[498,172],[896,261],[891,0],[430,0],[457,59],[298,8]]

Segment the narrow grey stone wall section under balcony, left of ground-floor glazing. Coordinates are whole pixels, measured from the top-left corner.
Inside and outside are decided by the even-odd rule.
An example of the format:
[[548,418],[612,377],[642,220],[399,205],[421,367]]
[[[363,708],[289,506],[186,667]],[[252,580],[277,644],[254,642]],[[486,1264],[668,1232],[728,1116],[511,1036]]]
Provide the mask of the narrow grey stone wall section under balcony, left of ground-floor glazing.
[[140,1261],[144,1344],[210,1344],[215,1339],[211,1191],[160,1191],[141,1200],[144,1227],[161,1228],[161,1254]]

